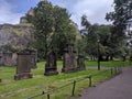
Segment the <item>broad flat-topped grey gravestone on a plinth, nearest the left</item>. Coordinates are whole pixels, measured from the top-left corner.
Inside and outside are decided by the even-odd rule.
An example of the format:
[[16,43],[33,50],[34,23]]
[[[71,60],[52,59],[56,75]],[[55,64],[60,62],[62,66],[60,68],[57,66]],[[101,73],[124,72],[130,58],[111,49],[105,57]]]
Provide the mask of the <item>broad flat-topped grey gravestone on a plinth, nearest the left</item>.
[[32,78],[31,74],[31,51],[23,50],[18,53],[16,74],[14,80]]

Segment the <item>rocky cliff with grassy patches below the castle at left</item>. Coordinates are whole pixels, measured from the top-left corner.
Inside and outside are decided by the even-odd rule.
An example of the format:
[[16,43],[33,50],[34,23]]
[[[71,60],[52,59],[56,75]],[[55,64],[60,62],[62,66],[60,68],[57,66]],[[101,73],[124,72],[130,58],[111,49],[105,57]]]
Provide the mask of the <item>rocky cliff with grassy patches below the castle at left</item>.
[[30,24],[1,24],[0,25],[0,50],[21,50],[26,47],[32,38]]

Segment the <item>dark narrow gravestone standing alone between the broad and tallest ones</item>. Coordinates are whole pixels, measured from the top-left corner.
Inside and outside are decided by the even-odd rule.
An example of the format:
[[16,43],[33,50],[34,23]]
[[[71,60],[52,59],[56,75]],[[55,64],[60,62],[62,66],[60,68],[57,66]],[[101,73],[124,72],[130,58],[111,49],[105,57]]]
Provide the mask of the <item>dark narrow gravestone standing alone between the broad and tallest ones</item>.
[[46,64],[45,64],[45,74],[46,76],[50,75],[57,75],[57,65],[56,65],[56,54],[54,52],[47,53],[46,56]]

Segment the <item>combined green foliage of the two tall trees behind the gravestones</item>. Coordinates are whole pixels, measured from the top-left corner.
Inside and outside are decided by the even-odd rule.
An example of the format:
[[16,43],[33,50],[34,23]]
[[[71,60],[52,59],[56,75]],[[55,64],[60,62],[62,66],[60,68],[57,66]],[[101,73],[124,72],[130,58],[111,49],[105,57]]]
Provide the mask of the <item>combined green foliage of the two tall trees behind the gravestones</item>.
[[76,29],[69,20],[66,9],[53,6],[47,0],[40,1],[34,8],[34,15],[28,15],[33,24],[34,46],[38,57],[44,58],[48,51],[62,51],[69,42],[75,41]]

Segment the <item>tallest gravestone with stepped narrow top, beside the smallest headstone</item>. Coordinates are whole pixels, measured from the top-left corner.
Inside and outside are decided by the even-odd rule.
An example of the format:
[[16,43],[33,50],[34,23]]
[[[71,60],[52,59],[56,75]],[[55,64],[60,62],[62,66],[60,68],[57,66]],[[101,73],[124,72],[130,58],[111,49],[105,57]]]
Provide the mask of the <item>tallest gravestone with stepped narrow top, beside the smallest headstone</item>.
[[77,70],[75,53],[74,44],[67,44],[67,47],[64,50],[62,73],[73,73]]

